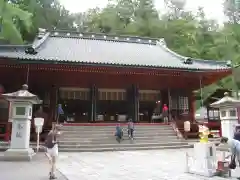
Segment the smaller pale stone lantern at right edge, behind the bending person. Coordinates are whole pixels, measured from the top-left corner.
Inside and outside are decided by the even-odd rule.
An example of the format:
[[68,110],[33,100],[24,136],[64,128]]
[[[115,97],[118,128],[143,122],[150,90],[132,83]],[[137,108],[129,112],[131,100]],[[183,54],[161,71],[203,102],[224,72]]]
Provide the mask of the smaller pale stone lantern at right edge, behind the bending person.
[[234,99],[224,93],[224,97],[210,105],[213,108],[218,108],[221,120],[222,136],[233,138],[235,127],[238,124],[237,107],[240,106],[240,100]]

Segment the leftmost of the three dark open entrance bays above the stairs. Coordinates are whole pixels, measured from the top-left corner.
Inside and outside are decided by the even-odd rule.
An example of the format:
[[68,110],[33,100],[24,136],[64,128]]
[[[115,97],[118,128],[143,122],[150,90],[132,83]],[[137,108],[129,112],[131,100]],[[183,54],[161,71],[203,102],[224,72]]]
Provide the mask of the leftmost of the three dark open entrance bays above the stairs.
[[88,122],[91,116],[90,90],[84,88],[60,88],[59,103],[64,111],[64,122]]

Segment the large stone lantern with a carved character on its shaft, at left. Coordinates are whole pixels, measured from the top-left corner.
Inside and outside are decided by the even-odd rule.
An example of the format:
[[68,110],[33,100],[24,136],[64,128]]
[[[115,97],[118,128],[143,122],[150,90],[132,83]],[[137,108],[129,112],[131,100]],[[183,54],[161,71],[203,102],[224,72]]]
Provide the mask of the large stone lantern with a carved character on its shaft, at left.
[[4,160],[30,161],[35,154],[30,148],[30,130],[33,104],[40,104],[38,96],[28,91],[28,85],[13,93],[2,94],[11,103],[10,117],[12,133],[10,148],[4,153]]

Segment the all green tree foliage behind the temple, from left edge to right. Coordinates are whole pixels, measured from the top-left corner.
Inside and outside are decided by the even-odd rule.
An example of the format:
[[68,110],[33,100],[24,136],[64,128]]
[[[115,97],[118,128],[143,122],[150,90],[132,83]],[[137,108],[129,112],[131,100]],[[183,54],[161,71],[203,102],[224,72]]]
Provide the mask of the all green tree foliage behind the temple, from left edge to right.
[[[31,41],[38,28],[148,36],[164,38],[169,48],[184,56],[240,64],[239,0],[225,0],[228,22],[224,26],[206,19],[202,8],[193,14],[184,9],[184,1],[164,2],[164,12],[157,11],[153,0],[109,0],[103,9],[70,14],[57,0],[15,0],[11,4],[0,0],[4,17],[0,37],[13,43],[22,43],[22,37]],[[235,89],[232,79],[204,87],[203,99],[216,88]]]

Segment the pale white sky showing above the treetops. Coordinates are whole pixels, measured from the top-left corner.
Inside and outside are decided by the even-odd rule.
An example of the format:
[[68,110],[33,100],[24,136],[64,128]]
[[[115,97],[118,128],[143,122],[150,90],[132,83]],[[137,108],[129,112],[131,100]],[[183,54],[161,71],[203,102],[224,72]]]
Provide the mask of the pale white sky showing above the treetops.
[[[59,0],[70,12],[84,12],[89,8],[106,6],[108,0]],[[186,0],[186,9],[195,11],[197,8],[203,7],[208,18],[223,21],[223,0]],[[157,9],[164,8],[164,0],[155,0]]]

